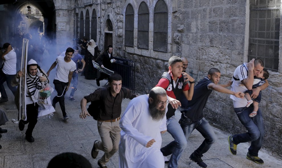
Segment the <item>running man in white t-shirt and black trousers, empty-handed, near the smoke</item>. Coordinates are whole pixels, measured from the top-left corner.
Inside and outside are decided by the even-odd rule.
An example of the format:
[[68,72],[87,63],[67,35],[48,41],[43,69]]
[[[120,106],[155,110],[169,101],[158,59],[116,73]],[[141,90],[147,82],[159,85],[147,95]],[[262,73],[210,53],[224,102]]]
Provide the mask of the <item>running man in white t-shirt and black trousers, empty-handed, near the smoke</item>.
[[65,109],[65,93],[68,91],[68,88],[70,87],[72,74],[73,71],[76,69],[75,62],[71,60],[73,53],[74,50],[71,47],[68,47],[66,50],[65,57],[58,56],[56,58],[56,61],[51,65],[50,69],[47,72],[47,75],[49,76],[50,71],[54,69],[58,64],[56,70],[56,76],[53,82],[58,94],[57,96],[54,97],[52,101],[52,105],[55,108],[56,103],[58,102],[60,103],[64,120],[69,119]]

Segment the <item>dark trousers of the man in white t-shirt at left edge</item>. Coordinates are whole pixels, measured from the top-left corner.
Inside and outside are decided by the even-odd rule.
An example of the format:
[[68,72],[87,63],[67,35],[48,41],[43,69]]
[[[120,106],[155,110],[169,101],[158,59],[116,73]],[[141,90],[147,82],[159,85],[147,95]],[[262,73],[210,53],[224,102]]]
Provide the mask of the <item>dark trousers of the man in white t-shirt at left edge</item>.
[[15,78],[15,75],[7,75],[4,73],[0,75],[0,92],[3,99],[8,98],[5,88],[3,86],[3,83],[5,81],[7,82],[7,86],[12,91],[13,95],[16,96],[17,94],[17,87],[12,86],[13,78]]

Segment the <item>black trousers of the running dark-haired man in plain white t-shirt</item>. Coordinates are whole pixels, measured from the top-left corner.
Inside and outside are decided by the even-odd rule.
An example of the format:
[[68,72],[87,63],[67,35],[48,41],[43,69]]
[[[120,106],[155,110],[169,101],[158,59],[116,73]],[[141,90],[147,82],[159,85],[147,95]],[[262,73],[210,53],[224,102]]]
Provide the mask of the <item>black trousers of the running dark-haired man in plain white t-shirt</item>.
[[54,99],[52,100],[52,106],[55,107],[56,103],[59,102],[63,116],[65,117],[67,115],[66,108],[65,108],[65,94],[66,94],[65,87],[68,86],[68,82],[61,82],[60,80],[54,79],[53,83],[55,85],[55,89],[58,95],[55,96]]

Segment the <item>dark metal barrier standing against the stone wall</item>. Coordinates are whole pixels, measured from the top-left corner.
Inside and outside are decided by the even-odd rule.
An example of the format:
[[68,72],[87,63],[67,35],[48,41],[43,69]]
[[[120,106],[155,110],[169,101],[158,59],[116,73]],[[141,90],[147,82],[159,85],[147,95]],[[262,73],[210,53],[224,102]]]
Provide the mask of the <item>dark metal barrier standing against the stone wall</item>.
[[116,62],[112,64],[112,68],[122,76],[122,86],[135,91],[135,63],[123,58],[113,58]]

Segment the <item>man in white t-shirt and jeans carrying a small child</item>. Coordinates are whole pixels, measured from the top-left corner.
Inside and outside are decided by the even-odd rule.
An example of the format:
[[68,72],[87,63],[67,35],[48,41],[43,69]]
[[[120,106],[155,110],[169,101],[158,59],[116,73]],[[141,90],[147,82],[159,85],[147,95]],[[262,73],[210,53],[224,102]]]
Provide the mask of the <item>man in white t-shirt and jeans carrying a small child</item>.
[[[251,97],[256,98],[259,95],[259,92],[268,86],[268,82],[265,80],[265,84],[252,89],[254,76],[263,73],[263,66],[264,64],[261,59],[252,59],[249,63],[239,65],[234,71],[231,90],[243,93],[246,90],[252,90],[253,93]],[[252,113],[253,106],[251,105],[250,107],[246,107],[248,100],[245,97],[240,99],[230,95],[230,98],[233,100],[234,111],[238,119],[248,132],[229,136],[229,150],[233,155],[236,155],[237,145],[239,143],[251,142],[251,146],[247,153],[247,159],[258,164],[263,164],[263,160],[258,157],[258,152],[262,146],[264,136],[262,112],[258,109],[257,115],[255,117],[250,117],[249,114]]]

